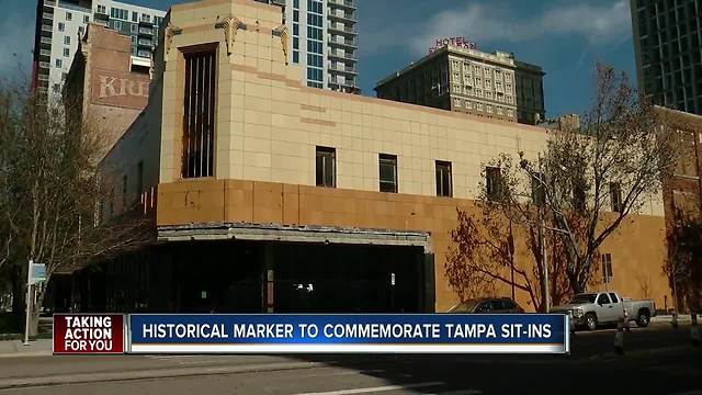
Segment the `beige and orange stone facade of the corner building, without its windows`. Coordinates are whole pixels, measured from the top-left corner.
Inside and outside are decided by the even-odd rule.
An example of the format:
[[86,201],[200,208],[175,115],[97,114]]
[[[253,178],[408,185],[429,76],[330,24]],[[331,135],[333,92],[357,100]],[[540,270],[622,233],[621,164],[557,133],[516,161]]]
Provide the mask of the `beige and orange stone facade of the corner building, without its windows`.
[[[233,23],[236,29],[228,30]],[[483,163],[543,150],[545,128],[303,87],[286,64],[280,9],[248,0],[173,5],[155,55],[151,99],[106,159],[116,174],[140,158],[158,189],[159,226],[271,223],[428,232],[435,309],[456,301],[444,279],[456,207],[473,206]],[[183,178],[185,56],[216,47],[214,176]],[[158,95],[158,97],[157,97]],[[158,147],[156,146],[158,145]],[[137,148],[140,147],[140,148]],[[316,187],[317,147],[336,153],[336,188]],[[137,154],[135,154],[135,149]],[[380,192],[378,156],[397,158],[398,193]],[[437,161],[452,196],[437,196]],[[131,192],[129,192],[131,193]],[[626,296],[669,295],[660,195],[608,240],[613,283]],[[646,279],[635,274],[645,273]],[[520,295],[522,300],[524,295]]]

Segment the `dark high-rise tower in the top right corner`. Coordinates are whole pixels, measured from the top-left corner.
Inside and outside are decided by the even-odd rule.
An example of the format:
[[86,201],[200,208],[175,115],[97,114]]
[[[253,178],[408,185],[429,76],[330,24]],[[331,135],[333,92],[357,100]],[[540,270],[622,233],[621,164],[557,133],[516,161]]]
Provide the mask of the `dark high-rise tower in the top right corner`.
[[702,114],[700,0],[631,0],[638,87],[656,104]]

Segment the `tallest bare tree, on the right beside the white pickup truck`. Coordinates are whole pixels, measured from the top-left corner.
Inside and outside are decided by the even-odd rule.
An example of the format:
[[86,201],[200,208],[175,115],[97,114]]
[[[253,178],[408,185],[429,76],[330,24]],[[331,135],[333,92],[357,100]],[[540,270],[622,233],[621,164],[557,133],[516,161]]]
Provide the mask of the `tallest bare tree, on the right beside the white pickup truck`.
[[[540,162],[545,206],[567,259],[570,289],[584,292],[598,248],[649,194],[657,194],[677,163],[677,137],[656,109],[630,86],[625,74],[598,65],[592,109],[579,128],[553,135]],[[611,211],[611,214],[605,212]],[[578,237],[577,225],[584,224]]]

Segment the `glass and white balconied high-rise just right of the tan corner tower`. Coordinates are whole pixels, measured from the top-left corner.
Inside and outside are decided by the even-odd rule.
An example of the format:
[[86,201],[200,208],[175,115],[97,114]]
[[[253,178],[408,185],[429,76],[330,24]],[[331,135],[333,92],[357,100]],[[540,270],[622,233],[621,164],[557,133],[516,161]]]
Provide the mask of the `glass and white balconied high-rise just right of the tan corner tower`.
[[299,65],[303,83],[360,93],[355,0],[257,0],[278,4],[291,32],[290,61]]

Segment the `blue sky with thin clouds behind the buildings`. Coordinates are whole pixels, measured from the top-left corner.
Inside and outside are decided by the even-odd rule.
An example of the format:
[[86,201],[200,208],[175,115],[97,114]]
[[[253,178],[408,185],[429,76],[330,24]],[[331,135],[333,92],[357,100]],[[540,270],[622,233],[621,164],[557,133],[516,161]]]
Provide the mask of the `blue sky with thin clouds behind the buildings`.
[[[167,9],[169,0],[126,0]],[[605,61],[635,80],[626,0],[356,0],[363,94],[427,53],[439,36],[514,53],[544,68],[546,116],[590,105],[592,70]],[[29,74],[36,0],[0,0],[0,81]],[[9,54],[9,56],[5,56]]]

